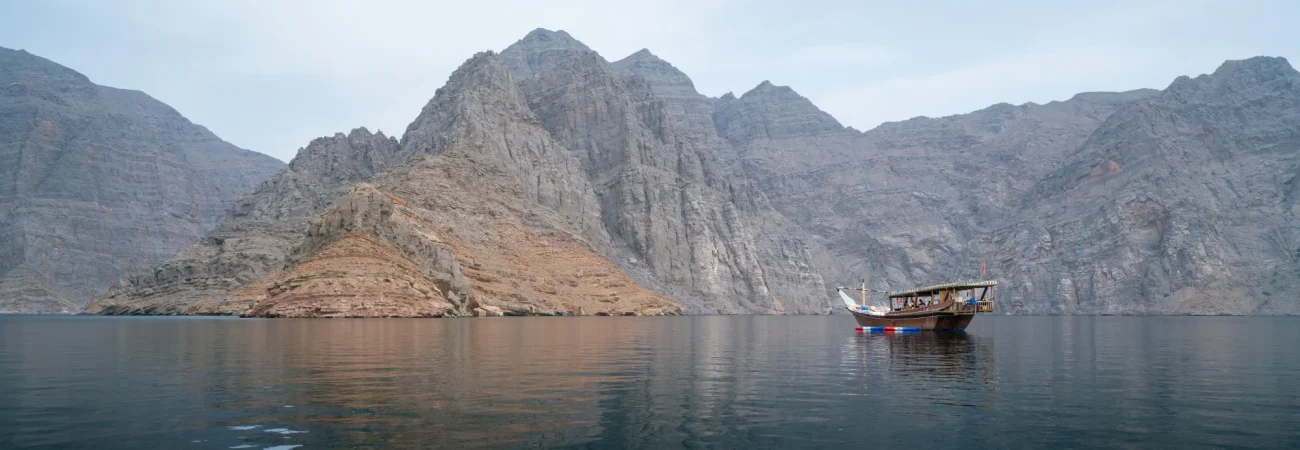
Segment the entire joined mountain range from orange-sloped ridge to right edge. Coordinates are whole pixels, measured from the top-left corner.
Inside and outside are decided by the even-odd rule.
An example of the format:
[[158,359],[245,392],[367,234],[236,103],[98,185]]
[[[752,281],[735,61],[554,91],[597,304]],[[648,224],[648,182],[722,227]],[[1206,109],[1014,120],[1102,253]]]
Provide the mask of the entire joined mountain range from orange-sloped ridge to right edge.
[[400,140],[321,138],[100,313],[822,313],[979,276],[1018,313],[1297,312],[1296,73],[868,131],[707,98],[563,31],[476,55]]

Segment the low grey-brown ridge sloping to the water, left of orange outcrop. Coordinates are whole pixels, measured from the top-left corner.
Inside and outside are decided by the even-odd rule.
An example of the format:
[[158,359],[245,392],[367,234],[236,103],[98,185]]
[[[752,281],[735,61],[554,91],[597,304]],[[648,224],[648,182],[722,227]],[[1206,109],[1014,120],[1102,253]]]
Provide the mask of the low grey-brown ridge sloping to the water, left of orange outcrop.
[[[283,267],[312,217],[352,183],[395,165],[396,139],[356,129],[317,138],[283,170],[237,199],[216,230],[152,273],[134,276],[87,308],[90,313],[237,313],[252,299],[239,287]],[[221,307],[216,307],[221,306]]]

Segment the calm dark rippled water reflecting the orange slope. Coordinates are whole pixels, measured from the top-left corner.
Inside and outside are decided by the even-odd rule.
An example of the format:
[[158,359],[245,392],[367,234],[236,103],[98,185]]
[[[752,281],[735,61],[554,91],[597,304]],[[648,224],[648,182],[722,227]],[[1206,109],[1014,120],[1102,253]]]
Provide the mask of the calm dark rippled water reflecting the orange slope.
[[0,316],[0,449],[1300,447],[1294,317]]

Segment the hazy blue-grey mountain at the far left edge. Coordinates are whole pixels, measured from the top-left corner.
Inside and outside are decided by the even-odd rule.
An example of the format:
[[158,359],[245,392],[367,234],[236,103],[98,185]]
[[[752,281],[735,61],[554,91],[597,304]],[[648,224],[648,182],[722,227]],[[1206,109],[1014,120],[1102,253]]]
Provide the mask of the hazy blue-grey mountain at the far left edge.
[[0,312],[75,312],[283,166],[139,91],[0,48]]

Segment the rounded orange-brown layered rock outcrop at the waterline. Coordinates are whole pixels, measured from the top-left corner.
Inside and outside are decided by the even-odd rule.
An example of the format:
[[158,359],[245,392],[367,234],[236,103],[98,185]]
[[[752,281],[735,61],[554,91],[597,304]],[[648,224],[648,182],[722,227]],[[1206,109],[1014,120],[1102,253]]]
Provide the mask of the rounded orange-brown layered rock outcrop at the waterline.
[[[450,248],[400,199],[359,185],[307,230],[282,273],[237,298],[252,317],[442,317],[464,312],[468,282]],[[459,307],[459,308],[458,308]],[[459,310],[459,311],[458,311]]]

